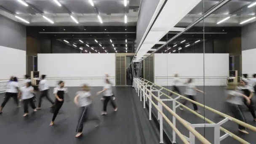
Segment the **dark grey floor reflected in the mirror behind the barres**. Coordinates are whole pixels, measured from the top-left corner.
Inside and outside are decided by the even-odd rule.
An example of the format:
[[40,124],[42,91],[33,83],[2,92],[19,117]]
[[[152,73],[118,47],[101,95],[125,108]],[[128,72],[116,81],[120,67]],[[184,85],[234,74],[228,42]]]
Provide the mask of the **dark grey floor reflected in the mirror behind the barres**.
[[[169,89],[171,89],[172,87],[168,87]],[[180,86],[179,87],[181,90],[181,94],[184,94],[184,87]],[[198,86],[197,87],[200,90],[203,90],[203,86]],[[197,96],[196,96],[196,100],[198,102],[200,102],[201,104],[205,104],[208,107],[211,107],[213,109],[216,109],[220,112],[226,112],[225,107],[224,107],[224,101],[225,101],[225,87],[224,86],[205,86],[205,96],[203,96],[202,93],[198,93],[197,92]],[[168,93],[170,94],[170,93]],[[176,97],[175,95],[173,95],[173,98]],[[163,98],[162,98],[163,99]],[[181,100],[182,101],[182,100]],[[253,96],[253,101],[256,101],[256,95]],[[155,101],[157,104],[157,101]],[[172,102],[171,101],[165,101],[165,104],[167,104],[170,108],[172,108]],[[190,102],[187,102],[186,106],[188,106],[190,109],[193,109],[193,106]],[[198,107],[200,112],[202,112],[202,115],[205,115],[206,118],[212,120],[215,123],[218,123],[220,120],[222,120],[223,118],[218,117],[217,115],[215,115],[213,112],[209,111],[209,110],[205,110],[203,107]],[[157,115],[157,111],[156,109],[153,108],[153,112],[155,115]],[[167,115],[167,117],[172,120],[172,115],[169,114],[164,108],[163,108],[163,112],[165,115]],[[253,117],[251,116],[251,113],[248,112],[247,107],[243,107],[243,112],[245,115],[245,118],[247,120],[247,123],[253,126],[256,126],[256,122],[253,121]],[[192,114],[191,112],[187,111],[186,109],[184,109],[184,111],[181,111],[180,109],[176,109],[176,113],[181,116],[181,118],[183,118],[184,120],[187,120],[189,123],[192,124],[199,124],[199,123],[204,123],[204,120],[197,117],[196,115]],[[227,113],[228,114],[228,113]],[[230,114],[229,114],[230,115]],[[232,115],[231,115],[232,116]],[[164,128],[165,130],[168,132],[168,134],[171,136],[172,135],[172,130],[170,128],[170,126],[164,121]],[[186,128],[184,128],[183,125],[181,125],[181,123],[179,123],[176,120],[177,123],[177,128],[181,131],[181,133],[183,133],[185,136],[189,137],[189,132]],[[227,123],[225,123],[224,125],[221,125],[223,128],[226,128],[228,131],[234,133],[235,135],[241,137],[242,139],[245,139],[245,141],[248,141],[251,144],[256,144],[256,132],[254,131],[250,131],[248,130],[249,134],[244,134],[244,133],[240,133],[238,130],[238,125],[233,123],[232,121],[229,121]],[[211,143],[213,143],[213,128],[196,128],[196,130],[198,132],[200,132],[203,136],[206,137],[206,139],[208,139]],[[221,136],[224,133],[221,131]],[[177,142],[178,143],[182,143],[181,140],[179,139],[178,136],[176,136],[177,138]],[[200,144],[199,141],[196,140],[196,144]],[[224,139],[223,141],[221,141],[221,144],[240,144],[240,142],[236,141],[235,139],[233,139],[232,137],[228,137],[226,139]]]

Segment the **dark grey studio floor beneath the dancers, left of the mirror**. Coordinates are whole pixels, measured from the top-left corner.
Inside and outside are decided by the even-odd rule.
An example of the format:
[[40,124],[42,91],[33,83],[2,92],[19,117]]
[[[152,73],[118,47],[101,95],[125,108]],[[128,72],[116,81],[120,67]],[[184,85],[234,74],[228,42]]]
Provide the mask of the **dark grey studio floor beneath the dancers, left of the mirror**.
[[[56,117],[55,125],[49,127],[52,114],[49,112],[50,103],[43,99],[42,109],[22,117],[23,107],[16,109],[14,101],[10,99],[0,115],[0,144],[157,144],[158,130],[149,122],[147,110],[142,108],[141,102],[131,87],[114,87],[118,111],[114,112],[109,104],[107,116],[100,116],[101,96],[95,96],[102,87],[93,87],[92,95],[95,112],[101,117],[102,124],[94,128],[95,123],[84,125],[83,136],[75,138],[77,125],[77,107],[73,102],[79,88],[69,88],[72,101],[64,103],[60,115]],[[53,88],[50,88],[50,95]],[[0,94],[0,103],[4,94]]]

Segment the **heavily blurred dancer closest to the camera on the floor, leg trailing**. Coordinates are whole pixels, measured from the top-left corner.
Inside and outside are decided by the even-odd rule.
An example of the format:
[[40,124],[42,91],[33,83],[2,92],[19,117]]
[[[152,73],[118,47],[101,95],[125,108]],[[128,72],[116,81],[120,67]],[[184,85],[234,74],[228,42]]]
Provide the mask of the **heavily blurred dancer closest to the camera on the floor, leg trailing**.
[[94,117],[94,119],[91,119],[91,116],[93,115],[93,109],[91,106],[92,99],[88,85],[83,85],[81,87],[81,91],[77,92],[77,96],[75,96],[74,102],[79,107],[80,111],[80,116],[76,128],[77,135],[75,136],[79,137],[83,133],[83,123],[88,120],[97,120],[98,124],[96,126],[98,126],[100,124],[100,120],[99,117]]

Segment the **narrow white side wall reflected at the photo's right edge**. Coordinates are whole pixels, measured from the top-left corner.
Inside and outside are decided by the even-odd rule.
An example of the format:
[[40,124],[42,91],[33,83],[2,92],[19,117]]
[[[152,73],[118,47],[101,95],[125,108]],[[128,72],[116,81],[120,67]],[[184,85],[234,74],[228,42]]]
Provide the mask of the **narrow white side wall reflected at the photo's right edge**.
[[256,48],[242,51],[242,73],[251,77],[256,73]]

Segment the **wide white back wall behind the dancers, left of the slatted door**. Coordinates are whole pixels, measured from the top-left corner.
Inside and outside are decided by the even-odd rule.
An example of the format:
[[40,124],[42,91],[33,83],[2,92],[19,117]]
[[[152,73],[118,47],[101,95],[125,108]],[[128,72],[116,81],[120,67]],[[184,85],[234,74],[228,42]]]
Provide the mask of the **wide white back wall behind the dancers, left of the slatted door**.
[[[38,54],[38,71],[47,75],[51,86],[64,80],[67,86],[88,83],[103,85],[104,77],[115,77],[115,53],[50,53]],[[115,85],[115,79],[111,82]]]

